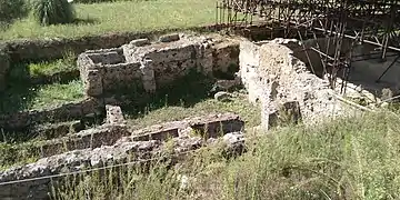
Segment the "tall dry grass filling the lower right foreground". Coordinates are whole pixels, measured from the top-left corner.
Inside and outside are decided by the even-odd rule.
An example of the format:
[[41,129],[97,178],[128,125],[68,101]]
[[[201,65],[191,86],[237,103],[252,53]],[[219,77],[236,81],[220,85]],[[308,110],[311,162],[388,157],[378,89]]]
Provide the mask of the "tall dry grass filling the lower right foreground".
[[234,160],[210,148],[169,169],[160,163],[147,172],[130,167],[109,171],[107,179],[80,177],[86,181],[56,193],[59,199],[399,199],[399,122],[378,113],[312,129],[287,127],[250,139],[249,151]]

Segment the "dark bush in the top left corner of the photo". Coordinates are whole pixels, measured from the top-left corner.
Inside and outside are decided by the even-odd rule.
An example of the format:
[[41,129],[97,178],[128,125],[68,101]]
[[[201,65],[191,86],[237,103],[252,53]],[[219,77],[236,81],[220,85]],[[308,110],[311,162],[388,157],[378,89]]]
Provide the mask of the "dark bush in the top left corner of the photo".
[[24,0],[0,0],[0,24],[8,24],[27,14],[28,9]]

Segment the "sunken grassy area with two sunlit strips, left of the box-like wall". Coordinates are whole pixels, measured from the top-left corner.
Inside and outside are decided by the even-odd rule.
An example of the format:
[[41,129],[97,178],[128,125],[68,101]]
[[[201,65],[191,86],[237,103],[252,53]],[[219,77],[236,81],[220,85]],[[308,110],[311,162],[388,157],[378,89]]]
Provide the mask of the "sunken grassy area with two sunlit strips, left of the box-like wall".
[[7,89],[0,92],[0,113],[44,108],[83,97],[73,58],[11,67]]

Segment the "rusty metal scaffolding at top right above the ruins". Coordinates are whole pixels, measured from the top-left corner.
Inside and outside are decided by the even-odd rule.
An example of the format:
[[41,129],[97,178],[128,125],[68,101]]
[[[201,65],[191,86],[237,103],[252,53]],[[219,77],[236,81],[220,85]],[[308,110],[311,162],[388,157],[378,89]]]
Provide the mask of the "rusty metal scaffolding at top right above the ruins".
[[[323,76],[329,74],[334,87],[341,71],[343,89],[356,61],[396,57],[377,81],[398,62],[399,10],[396,0],[219,0],[216,23],[239,29],[264,24],[272,32],[281,31],[283,38],[316,39],[317,46],[310,49],[319,54]],[[343,40],[349,40],[350,47],[343,48]],[[353,48],[363,43],[374,46],[374,52],[352,54]]]

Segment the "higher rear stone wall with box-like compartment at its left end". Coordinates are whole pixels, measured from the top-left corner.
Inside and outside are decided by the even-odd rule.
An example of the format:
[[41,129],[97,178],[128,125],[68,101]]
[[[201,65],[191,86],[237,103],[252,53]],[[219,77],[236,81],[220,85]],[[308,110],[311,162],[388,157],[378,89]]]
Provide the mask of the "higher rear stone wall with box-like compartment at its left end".
[[229,66],[238,66],[239,43],[233,40],[174,36],[177,40],[172,41],[150,43],[139,39],[121,48],[80,54],[78,66],[86,94],[99,97],[122,88],[152,92],[191,70],[213,76],[214,71],[228,72]]

